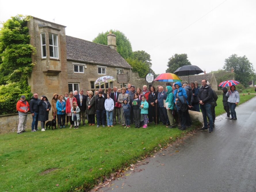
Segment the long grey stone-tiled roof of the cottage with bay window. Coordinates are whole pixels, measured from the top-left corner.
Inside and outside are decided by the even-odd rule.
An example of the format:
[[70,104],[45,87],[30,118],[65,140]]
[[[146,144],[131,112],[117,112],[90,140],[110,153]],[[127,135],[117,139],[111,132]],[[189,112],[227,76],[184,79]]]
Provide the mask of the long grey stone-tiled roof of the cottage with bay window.
[[120,68],[132,68],[114,49],[66,35],[67,60],[103,64]]

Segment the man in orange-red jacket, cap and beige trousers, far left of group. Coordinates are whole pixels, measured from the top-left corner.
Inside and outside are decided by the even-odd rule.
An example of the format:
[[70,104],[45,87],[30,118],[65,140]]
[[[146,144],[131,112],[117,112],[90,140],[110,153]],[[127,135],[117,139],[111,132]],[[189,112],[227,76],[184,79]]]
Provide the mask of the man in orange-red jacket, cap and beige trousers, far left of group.
[[16,104],[16,109],[19,112],[19,125],[17,133],[20,134],[25,132],[29,111],[29,104],[25,99],[25,95],[21,95],[21,99]]

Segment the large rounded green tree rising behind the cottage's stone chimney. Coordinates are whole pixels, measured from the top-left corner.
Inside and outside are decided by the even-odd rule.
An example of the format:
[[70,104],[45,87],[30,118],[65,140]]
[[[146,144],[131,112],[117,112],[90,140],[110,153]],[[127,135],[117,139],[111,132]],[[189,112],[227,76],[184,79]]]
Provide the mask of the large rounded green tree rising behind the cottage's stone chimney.
[[[125,36],[125,34],[119,30],[111,30],[112,34],[116,35],[116,46],[117,46],[117,52],[124,58],[127,59],[132,55],[132,48],[131,48],[131,42],[129,39]],[[102,45],[108,45],[108,39],[107,34],[109,32],[105,33],[99,33],[97,37],[95,37],[92,42],[99,43]]]

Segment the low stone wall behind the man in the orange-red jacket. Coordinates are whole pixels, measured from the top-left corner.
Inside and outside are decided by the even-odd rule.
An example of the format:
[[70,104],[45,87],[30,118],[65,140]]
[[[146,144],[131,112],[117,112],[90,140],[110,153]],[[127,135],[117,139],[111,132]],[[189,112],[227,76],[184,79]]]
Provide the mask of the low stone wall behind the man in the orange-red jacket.
[[[26,130],[31,130],[32,116],[29,113],[26,123]],[[19,124],[19,114],[8,114],[0,116],[0,134],[17,132]],[[40,121],[39,121],[40,126]]]

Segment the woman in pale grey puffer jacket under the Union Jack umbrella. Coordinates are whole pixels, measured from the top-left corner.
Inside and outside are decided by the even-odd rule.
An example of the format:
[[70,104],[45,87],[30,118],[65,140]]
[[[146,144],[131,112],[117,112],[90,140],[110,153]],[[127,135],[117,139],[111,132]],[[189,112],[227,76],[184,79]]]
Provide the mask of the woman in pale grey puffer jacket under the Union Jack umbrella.
[[236,91],[236,86],[232,85],[230,90],[226,93],[226,96],[228,97],[228,106],[230,108],[230,120],[237,120],[235,108],[240,101],[240,96],[238,91]]

